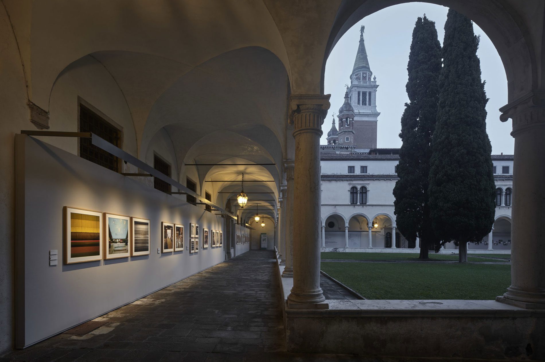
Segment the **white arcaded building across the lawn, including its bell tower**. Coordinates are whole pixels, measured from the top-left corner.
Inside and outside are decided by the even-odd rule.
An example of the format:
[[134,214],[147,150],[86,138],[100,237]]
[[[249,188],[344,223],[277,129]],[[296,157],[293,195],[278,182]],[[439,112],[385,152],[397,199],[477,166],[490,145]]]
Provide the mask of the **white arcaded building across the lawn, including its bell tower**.
[[[392,192],[398,180],[399,149],[377,149],[378,85],[376,77],[371,80],[363,31],[362,27],[350,86],[337,115],[338,127],[334,116],[328,144],[320,146],[322,250],[417,252],[419,246],[396,230]],[[492,155],[492,160],[497,188],[494,228],[468,249],[508,252],[513,155]],[[457,247],[448,243],[441,251],[453,249]]]

